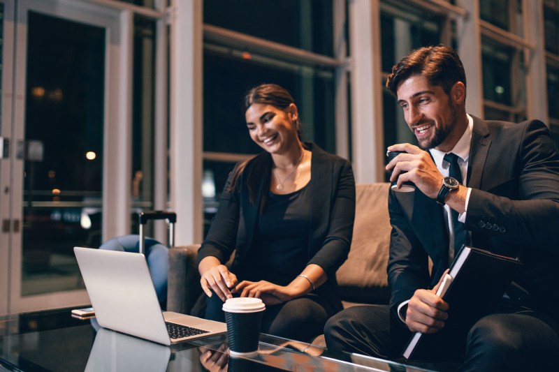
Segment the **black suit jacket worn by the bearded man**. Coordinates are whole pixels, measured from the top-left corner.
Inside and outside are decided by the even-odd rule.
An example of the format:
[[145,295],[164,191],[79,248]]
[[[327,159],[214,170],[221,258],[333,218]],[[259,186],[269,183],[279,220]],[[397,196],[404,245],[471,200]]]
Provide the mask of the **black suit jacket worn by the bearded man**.
[[[465,228],[472,246],[520,258],[523,269],[507,294],[559,318],[552,308],[559,302],[559,154],[549,129],[537,120],[474,117],[467,172],[472,193]],[[442,208],[419,190],[389,195],[393,307],[435,285],[449,267]]]

